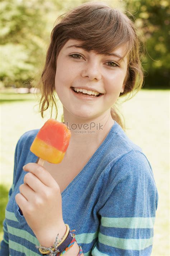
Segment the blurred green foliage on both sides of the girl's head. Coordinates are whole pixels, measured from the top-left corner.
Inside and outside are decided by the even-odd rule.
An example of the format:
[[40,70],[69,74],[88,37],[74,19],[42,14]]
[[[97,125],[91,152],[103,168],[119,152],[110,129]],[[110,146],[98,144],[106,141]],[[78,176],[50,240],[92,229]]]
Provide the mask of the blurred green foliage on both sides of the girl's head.
[[[57,17],[85,2],[87,1],[1,1],[0,81],[5,86],[29,87],[30,81],[42,69]],[[105,0],[103,2],[109,3]],[[167,87],[170,68],[168,1],[129,0],[124,3],[134,15],[146,44],[147,53],[143,58],[145,86]]]

